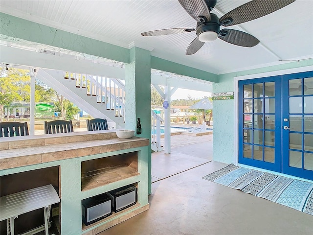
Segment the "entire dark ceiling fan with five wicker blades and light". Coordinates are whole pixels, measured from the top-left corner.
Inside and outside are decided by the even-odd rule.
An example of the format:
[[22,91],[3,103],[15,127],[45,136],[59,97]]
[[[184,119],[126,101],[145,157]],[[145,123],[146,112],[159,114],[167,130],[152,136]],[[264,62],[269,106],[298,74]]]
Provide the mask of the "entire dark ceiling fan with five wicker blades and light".
[[231,26],[255,20],[283,8],[295,0],[252,0],[230,12],[220,19],[217,15],[210,13],[216,0],[179,0],[180,5],[187,13],[197,21],[194,28],[170,28],[141,33],[142,36],[161,36],[196,31],[197,37],[189,44],[186,55],[196,53],[204,43],[212,42],[217,38],[227,43],[241,47],[254,47],[260,41],[252,35],[220,26]]

